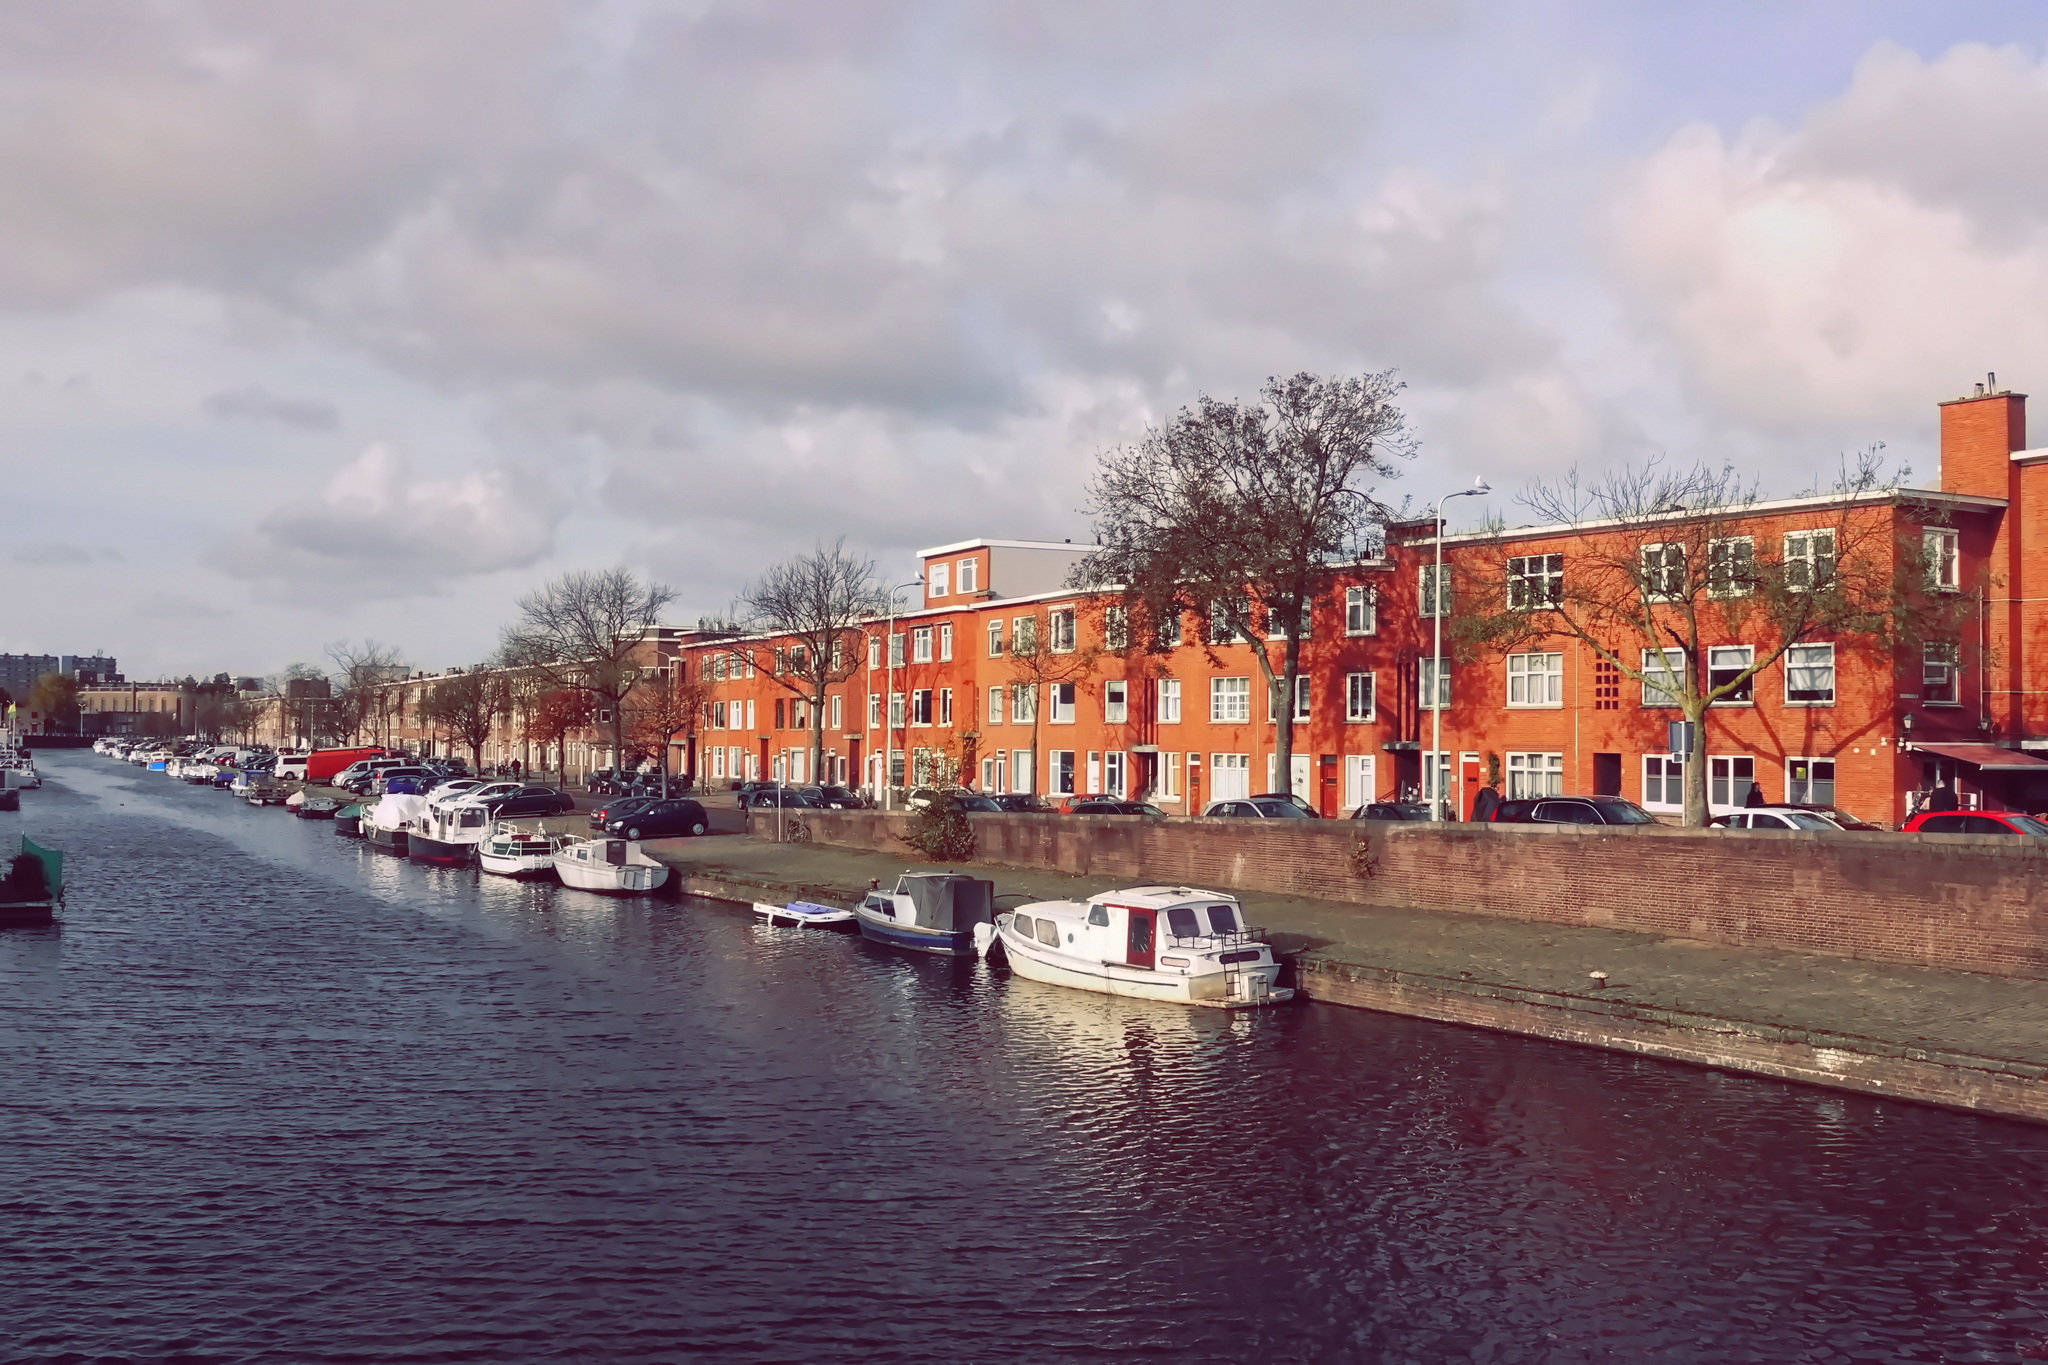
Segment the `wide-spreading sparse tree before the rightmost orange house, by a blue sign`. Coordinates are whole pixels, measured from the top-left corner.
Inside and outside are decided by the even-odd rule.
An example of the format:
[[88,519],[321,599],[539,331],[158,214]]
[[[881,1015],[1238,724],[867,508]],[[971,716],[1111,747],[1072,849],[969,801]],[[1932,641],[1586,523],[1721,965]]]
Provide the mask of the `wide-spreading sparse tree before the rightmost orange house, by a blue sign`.
[[1972,602],[1929,587],[1923,532],[1946,516],[1888,479],[1876,450],[1845,467],[1790,536],[1755,534],[1778,522],[1759,516],[1755,483],[1735,471],[1655,458],[1593,483],[1577,473],[1538,483],[1520,501],[1565,548],[1499,534],[1462,555],[1450,585],[1458,651],[1573,639],[1690,720],[1686,825],[1708,819],[1716,702],[1747,700],[1757,673],[1806,643],[1919,659],[1923,645],[1958,639]]

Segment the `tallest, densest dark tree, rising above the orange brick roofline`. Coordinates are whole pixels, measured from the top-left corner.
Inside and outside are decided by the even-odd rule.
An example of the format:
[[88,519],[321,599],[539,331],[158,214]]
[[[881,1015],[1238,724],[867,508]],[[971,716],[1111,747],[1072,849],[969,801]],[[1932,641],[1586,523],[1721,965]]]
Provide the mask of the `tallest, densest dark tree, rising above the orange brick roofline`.
[[[1413,454],[1401,387],[1393,370],[1268,379],[1257,403],[1202,395],[1137,446],[1104,452],[1090,485],[1100,548],[1071,581],[1122,589],[1147,620],[1194,612],[1212,641],[1249,643],[1270,714],[1294,716],[1311,604],[1333,563],[1380,542],[1389,510],[1370,481]],[[1292,724],[1274,724],[1274,751],[1286,784]]]

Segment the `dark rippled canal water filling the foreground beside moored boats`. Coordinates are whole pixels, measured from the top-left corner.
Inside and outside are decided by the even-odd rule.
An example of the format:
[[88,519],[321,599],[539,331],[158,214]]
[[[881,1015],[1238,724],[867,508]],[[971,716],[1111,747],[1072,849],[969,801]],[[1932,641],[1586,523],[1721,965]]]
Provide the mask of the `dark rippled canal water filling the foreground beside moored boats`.
[[408,866],[90,753],[4,1361],[2038,1361],[2048,1132]]

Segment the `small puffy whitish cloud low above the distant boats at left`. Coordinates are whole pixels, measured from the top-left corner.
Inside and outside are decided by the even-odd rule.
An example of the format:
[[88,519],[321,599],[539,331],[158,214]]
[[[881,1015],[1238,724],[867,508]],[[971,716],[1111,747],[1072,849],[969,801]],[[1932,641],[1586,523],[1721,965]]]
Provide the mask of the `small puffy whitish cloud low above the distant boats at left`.
[[440,596],[461,579],[532,565],[553,548],[561,514],[547,479],[508,467],[424,479],[373,442],[315,497],[270,512],[209,563],[258,593],[305,604]]

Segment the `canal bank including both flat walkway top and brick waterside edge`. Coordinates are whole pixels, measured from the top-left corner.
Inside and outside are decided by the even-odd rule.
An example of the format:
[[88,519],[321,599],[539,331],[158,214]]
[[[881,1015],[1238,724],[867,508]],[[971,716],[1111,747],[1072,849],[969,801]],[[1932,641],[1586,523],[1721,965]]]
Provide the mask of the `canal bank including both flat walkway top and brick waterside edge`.
[[[649,841],[686,894],[852,902],[903,855],[748,837]],[[1130,878],[981,864],[997,890],[1085,898]],[[1237,892],[1317,1001],[2048,1124],[2042,982]],[[1595,986],[1593,972],[1606,974]]]

